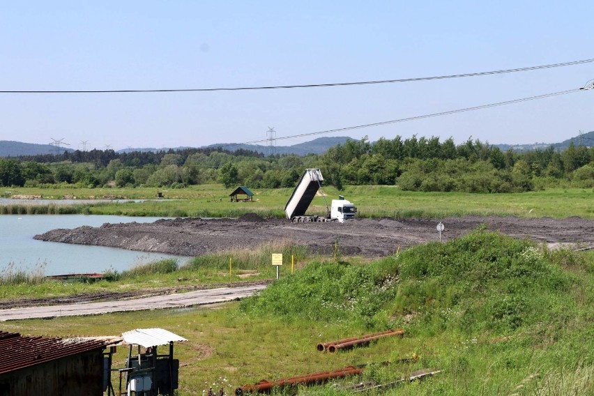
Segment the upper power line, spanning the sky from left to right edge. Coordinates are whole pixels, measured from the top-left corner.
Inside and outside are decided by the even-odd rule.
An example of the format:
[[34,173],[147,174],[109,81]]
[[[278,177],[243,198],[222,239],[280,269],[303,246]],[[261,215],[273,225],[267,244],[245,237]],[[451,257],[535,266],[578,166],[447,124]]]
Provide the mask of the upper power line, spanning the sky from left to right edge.
[[257,91],[263,89],[293,89],[293,88],[322,88],[327,86],[351,86],[351,85],[371,85],[371,84],[393,84],[398,82],[418,82],[429,81],[433,79],[451,79],[461,77],[477,77],[482,75],[497,75],[504,73],[517,73],[529,70],[540,70],[549,68],[560,68],[563,66],[581,65],[583,63],[594,62],[594,59],[584,59],[581,61],[570,61],[563,63],[552,63],[550,65],[529,66],[526,68],[514,68],[505,70],[492,70],[478,73],[462,73],[455,75],[441,75],[433,77],[415,77],[405,79],[382,79],[376,81],[360,82],[334,82],[328,84],[294,84],[294,85],[276,85],[276,86],[238,86],[229,88],[190,88],[190,89],[109,89],[109,90],[86,90],[86,91],[0,91],[0,93],[166,93],[166,92],[215,92],[215,91]]

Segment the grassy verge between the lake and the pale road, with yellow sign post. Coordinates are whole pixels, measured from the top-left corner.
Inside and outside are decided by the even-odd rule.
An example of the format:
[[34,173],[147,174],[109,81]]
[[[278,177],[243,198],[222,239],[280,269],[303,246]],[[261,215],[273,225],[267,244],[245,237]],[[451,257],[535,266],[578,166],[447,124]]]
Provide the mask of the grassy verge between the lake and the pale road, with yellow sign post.
[[[272,279],[276,269],[271,265],[271,254],[283,254],[282,273],[290,273],[291,256],[294,263],[303,266],[310,257],[307,249],[289,241],[275,241],[254,250],[235,250],[224,254],[206,254],[183,264],[176,259],[137,264],[125,271],[106,268],[106,280],[93,283],[61,282],[45,278],[45,266],[17,268],[9,264],[0,268],[0,305],[13,298],[43,298],[71,296],[96,291],[132,291],[158,287],[190,286],[193,284],[237,283],[241,280]],[[231,259],[231,275],[229,275]]]

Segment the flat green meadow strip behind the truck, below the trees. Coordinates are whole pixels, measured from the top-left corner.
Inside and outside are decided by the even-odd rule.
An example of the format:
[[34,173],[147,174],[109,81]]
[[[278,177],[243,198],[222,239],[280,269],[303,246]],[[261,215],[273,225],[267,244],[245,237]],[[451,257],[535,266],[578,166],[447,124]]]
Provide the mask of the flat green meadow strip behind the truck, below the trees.
[[[15,188],[13,195],[43,195],[48,199],[61,199],[75,195],[81,199],[112,195],[122,199],[155,199],[155,188],[101,188],[101,189],[56,189]],[[159,190],[167,199],[144,203],[80,204],[73,206],[42,206],[14,204],[0,206],[0,214],[26,213],[84,213],[96,215],[130,215],[163,217],[227,217],[236,218],[255,212],[263,217],[284,217],[284,205],[293,189],[255,190],[252,202],[231,202],[229,192],[222,185],[197,185],[189,188]],[[332,186],[324,187],[326,200],[344,195],[358,207],[363,218],[444,218],[462,215],[515,215],[518,217],[567,218],[579,216],[594,218],[594,190],[549,189],[510,194],[471,194],[463,192],[405,192],[395,186],[364,185],[346,186],[337,191]],[[308,211],[312,214],[326,213],[323,198],[314,198]]]

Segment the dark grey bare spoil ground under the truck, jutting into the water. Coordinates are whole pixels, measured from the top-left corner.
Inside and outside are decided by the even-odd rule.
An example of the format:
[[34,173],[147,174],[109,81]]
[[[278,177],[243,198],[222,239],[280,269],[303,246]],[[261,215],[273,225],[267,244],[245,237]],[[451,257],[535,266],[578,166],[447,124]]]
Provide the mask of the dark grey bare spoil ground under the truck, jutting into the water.
[[409,248],[418,243],[436,241],[436,224],[446,229],[442,240],[461,236],[480,224],[489,229],[519,238],[528,237],[546,243],[584,243],[594,245],[594,220],[581,218],[480,217],[427,219],[359,219],[344,224],[310,222],[293,224],[287,220],[264,220],[245,215],[238,220],[202,220],[178,218],[153,223],[103,224],[101,227],[54,229],[35,236],[42,241],[100,245],[143,252],[161,252],[197,256],[229,250],[251,250],[271,241],[293,241],[313,252],[330,254],[338,241],[345,255],[381,257],[392,254],[398,246]]

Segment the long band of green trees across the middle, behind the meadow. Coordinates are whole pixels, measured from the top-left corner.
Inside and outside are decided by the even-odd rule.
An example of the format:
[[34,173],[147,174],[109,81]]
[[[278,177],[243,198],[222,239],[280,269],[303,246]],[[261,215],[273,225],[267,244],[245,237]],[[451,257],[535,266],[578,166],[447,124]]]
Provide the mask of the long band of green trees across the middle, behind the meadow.
[[523,192],[559,181],[594,187],[594,148],[570,144],[564,151],[501,151],[496,146],[452,138],[367,137],[333,146],[326,153],[270,155],[245,149],[186,148],[158,152],[113,150],[0,159],[4,187],[156,187],[223,183],[226,187],[294,187],[306,168],[321,168],[325,183],[399,185],[411,191]]

